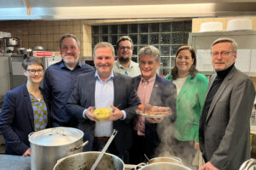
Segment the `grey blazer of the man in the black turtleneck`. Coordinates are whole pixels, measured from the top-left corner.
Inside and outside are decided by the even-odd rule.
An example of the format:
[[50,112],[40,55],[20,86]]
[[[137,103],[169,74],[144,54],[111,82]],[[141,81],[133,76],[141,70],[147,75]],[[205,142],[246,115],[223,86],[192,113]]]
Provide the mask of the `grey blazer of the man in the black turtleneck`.
[[[212,75],[208,92],[216,76]],[[250,158],[254,98],[252,80],[234,66],[212,99],[204,130],[200,120],[200,149],[214,167],[236,170]]]

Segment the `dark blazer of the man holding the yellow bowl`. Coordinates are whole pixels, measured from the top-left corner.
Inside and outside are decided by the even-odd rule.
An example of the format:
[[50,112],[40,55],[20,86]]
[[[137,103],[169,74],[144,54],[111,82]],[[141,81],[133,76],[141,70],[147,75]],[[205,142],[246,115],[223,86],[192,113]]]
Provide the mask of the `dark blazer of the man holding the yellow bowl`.
[[[95,122],[84,119],[83,111],[95,105],[95,71],[79,75],[73,92],[67,100],[67,112],[79,120],[79,129],[84,132],[84,141],[89,140],[84,151],[92,149],[95,133]],[[132,144],[132,120],[140,100],[131,85],[131,77],[113,73],[113,105],[119,104],[119,110],[126,112],[125,120],[113,122],[113,128],[118,130],[114,138],[119,153],[129,150]]]

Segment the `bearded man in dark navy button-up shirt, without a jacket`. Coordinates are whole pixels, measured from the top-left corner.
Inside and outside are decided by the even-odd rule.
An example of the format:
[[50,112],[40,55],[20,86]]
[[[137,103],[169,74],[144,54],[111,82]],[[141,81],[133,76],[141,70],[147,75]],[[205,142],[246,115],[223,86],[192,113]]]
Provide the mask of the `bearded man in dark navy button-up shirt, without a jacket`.
[[76,127],[78,122],[66,112],[67,99],[78,75],[95,69],[79,61],[80,42],[74,35],[63,35],[60,48],[62,60],[50,65],[44,74],[44,91],[49,101],[51,127]]

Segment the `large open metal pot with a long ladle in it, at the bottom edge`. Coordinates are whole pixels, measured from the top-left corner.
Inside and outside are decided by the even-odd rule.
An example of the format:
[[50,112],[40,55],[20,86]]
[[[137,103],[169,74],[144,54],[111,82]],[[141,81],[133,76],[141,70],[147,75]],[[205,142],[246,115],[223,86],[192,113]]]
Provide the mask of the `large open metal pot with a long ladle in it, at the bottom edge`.
[[[101,152],[98,151],[88,151],[72,156],[67,156],[58,161],[54,167],[54,170],[90,170],[96,158]],[[102,156],[102,160],[96,167],[96,170],[125,170],[124,161],[122,161],[118,156],[105,153]]]

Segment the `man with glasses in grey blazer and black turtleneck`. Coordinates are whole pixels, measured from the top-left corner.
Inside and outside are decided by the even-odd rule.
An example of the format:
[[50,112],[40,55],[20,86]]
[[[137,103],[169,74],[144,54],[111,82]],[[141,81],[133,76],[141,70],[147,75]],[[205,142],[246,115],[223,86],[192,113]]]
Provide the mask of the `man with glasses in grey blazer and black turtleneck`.
[[250,116],[255,89],[250,77],[236,69],[237,44],[230,38],[212,43],[216,74],[209,82],[199,128],[206,161],[200,170],[238,170],[250,158]]

